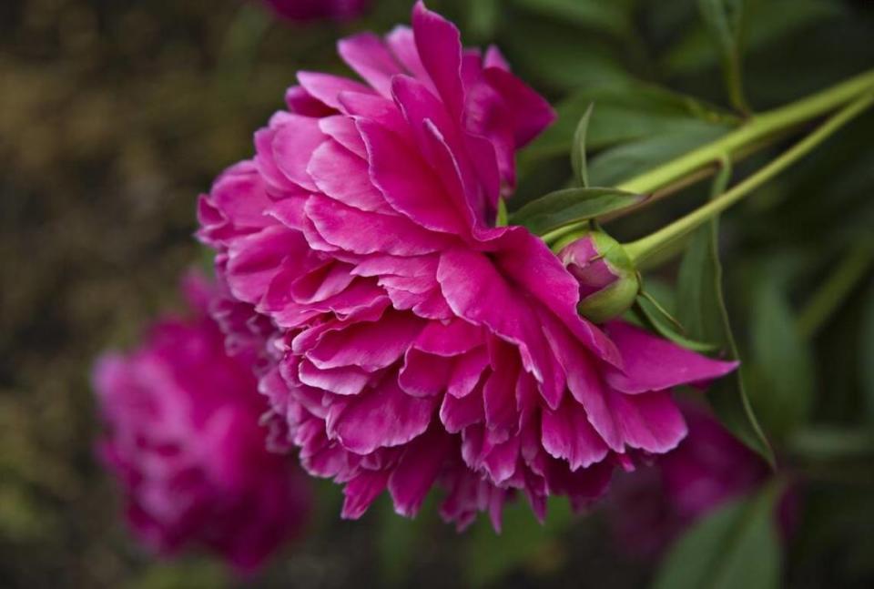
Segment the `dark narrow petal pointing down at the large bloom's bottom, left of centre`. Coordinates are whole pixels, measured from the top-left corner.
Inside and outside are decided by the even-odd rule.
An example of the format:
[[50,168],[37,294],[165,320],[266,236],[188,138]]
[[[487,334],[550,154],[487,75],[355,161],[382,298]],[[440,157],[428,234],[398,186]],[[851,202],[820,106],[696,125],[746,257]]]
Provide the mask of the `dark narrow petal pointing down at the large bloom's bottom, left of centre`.
[[419,512],[451,450],[452,438],[438,430],[412,441],[389,479],[395,512],[407,517]]

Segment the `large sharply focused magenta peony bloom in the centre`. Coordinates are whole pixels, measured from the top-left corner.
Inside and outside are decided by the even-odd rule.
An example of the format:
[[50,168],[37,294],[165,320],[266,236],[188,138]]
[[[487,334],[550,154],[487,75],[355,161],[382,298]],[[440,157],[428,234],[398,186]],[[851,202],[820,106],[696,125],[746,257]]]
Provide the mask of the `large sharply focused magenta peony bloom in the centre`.
[[[298,75],[288,110],[198,205],[232,298],[268,318],[260,382],[304,468],[459,527],[521,492],[582,506],[615,465],[676,447],[670,389],[734,369],[577,312],[542,239],[496,227],[515,151],[554,119],[503,56],[462,48],[422,3],[412,29],[340,41],[362,81]],[[232,339],[239,334],[231,330]]]

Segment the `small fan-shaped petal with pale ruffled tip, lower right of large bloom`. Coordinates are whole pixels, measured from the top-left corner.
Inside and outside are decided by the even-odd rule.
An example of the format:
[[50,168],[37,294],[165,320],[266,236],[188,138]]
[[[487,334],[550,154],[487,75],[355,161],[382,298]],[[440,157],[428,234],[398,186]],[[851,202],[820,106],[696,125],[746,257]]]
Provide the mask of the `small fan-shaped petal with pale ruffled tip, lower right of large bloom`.
[[601,462],[607,455],[604,441],[574,402],[565,401],[558,411],[544,408],[541,429],[544,450],[566,460],[571,471]]

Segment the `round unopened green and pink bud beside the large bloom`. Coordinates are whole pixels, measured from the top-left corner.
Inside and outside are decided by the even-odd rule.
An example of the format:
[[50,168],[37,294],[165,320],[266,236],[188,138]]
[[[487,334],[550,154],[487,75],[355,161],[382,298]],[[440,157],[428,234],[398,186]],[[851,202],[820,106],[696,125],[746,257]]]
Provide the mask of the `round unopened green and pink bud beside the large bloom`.
[[577,234],[558,257],[580,284],[580,315],[603,323],[628,310],[640,290],[634,263],[622,245],[602,231]]

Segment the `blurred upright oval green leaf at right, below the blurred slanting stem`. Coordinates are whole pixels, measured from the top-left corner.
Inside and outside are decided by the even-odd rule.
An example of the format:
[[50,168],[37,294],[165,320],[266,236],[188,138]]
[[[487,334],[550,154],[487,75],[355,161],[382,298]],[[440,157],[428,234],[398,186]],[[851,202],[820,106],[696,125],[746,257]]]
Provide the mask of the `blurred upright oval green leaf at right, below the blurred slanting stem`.
[[785,438],[808,420],[814,361],[777,280],[758,279],[752,313],[750,400],[767,432]]

